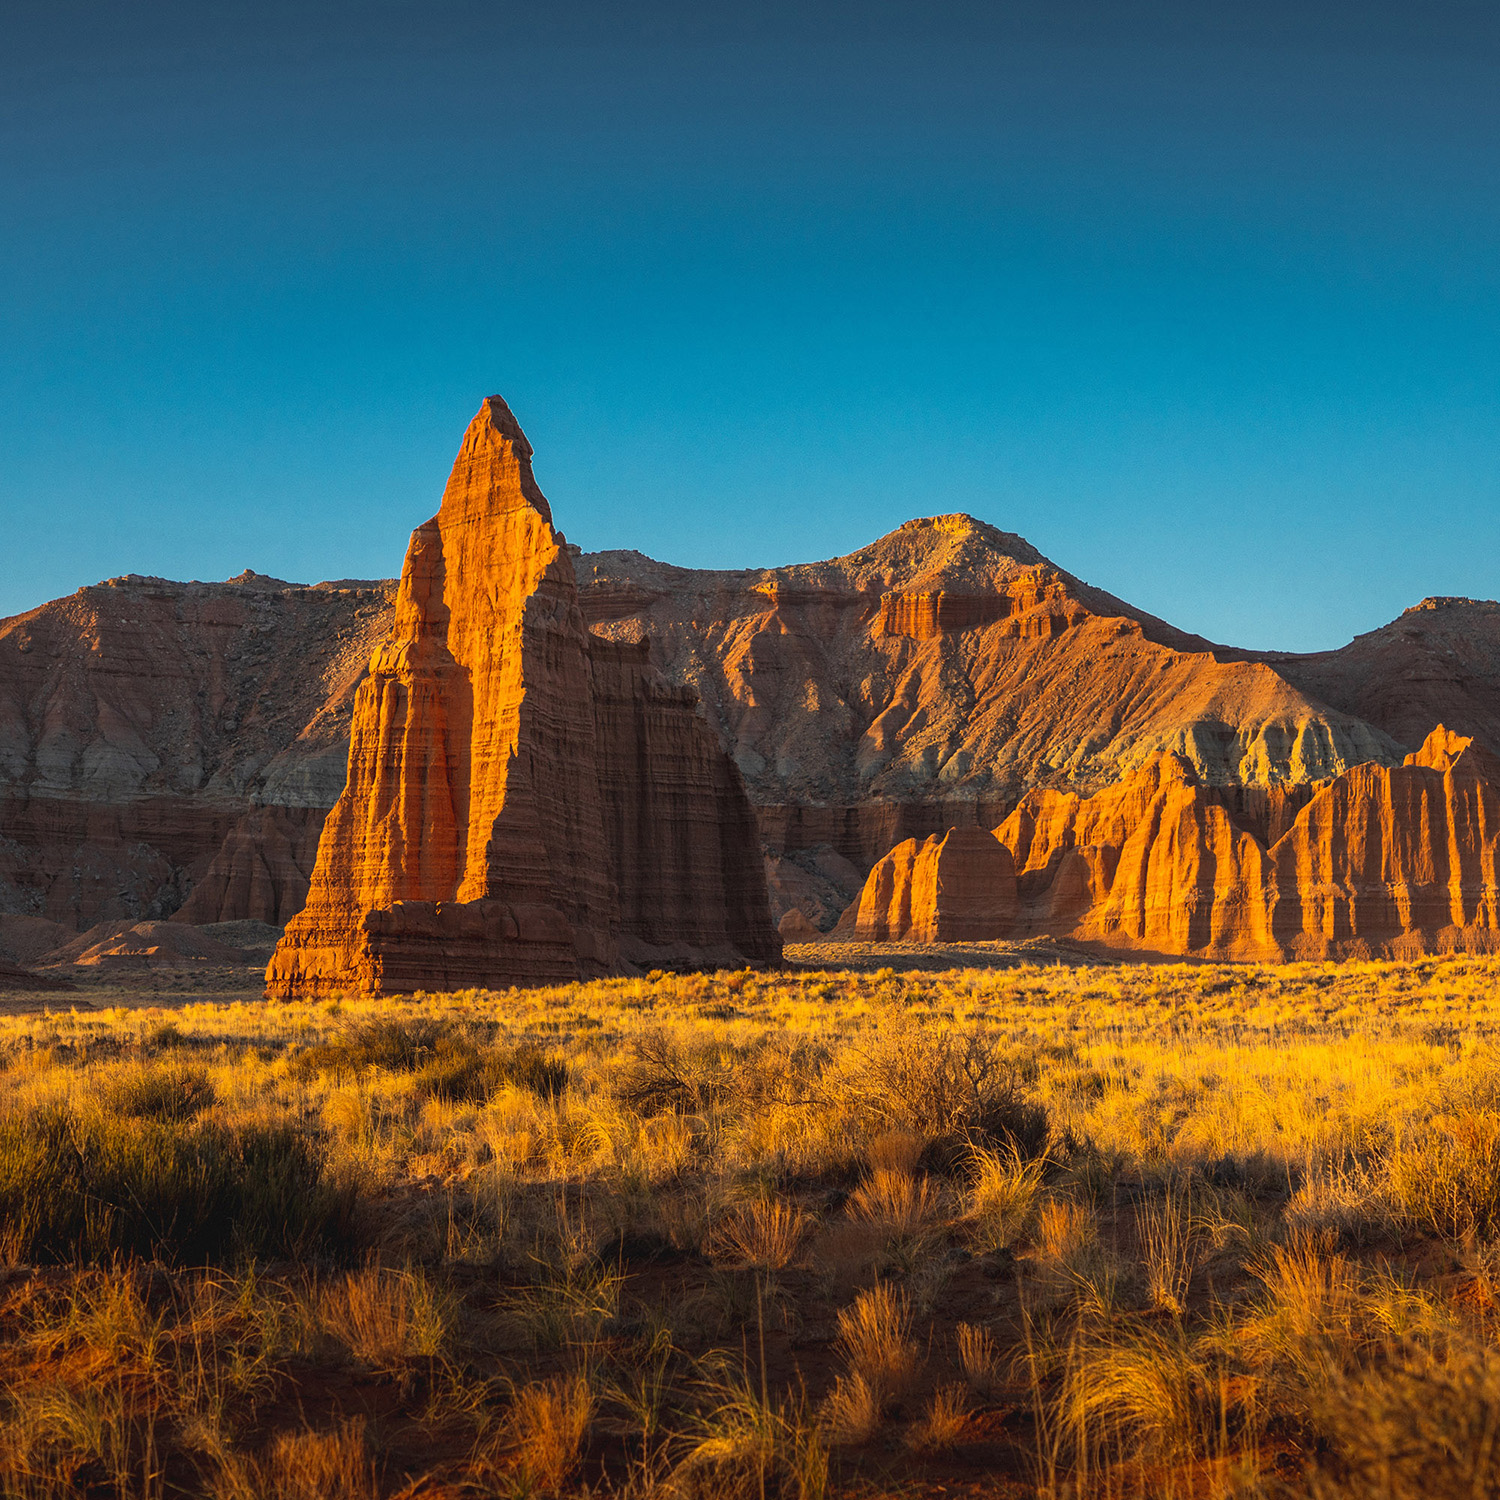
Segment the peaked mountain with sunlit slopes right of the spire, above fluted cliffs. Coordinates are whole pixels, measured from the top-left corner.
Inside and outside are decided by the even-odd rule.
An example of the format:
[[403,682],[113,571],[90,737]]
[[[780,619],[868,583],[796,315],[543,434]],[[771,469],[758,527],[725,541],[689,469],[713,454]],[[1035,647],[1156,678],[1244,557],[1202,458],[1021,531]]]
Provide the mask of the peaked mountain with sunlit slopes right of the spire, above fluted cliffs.
[[[993,825],[1038,786],[1088,795],[1161,753],[1254,788],[1400,760],[1264,663],[1218,660],[970,516],[756,572],[591,554],[580,585],[596,630],[648,636],[699,693],[776,855],[834,843],[868,866],[903,837]],[[932,822],[891,826],[909,808]]]

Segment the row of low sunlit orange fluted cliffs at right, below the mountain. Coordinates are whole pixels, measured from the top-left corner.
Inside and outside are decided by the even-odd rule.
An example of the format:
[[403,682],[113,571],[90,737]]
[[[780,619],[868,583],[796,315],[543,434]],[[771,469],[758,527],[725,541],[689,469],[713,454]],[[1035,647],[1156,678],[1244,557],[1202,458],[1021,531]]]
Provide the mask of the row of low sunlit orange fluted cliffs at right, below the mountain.
[[1482,746],[1438,726],[1402,765],[1299,801],[1268,822],[1170,753],[1089,798],[1030,792],[993,832],[1002,864],[964,854],[938,882],[940,842],[900,844],[838,934],[930,942],[948,912],[984,910],[970,938],[1212,958],[1500,948],[1500,759]]

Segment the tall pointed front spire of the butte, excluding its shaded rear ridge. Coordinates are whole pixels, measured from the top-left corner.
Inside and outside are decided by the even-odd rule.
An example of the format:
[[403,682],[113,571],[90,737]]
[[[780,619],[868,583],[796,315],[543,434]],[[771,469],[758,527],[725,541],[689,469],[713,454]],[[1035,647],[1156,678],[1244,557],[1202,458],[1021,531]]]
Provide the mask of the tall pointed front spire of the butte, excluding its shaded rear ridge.
[[[573,562],[532,477],[531,444],[490,396],[442,506],[412,532],[392,634],[356,699],[348,783],[268,992],[616,972],[618,854],[600,801],[608,765],[594,675]],[[717,754],[702,734],[693,742]],[[632,788],[682,771],[626,748]],[[738,782],[735,794],[742,800]],[[746,860],[758,862],[753,843],[730,864]],[[648,872],[648,906],[672,873]],[[774,957],[774,933],[758,944],[754,894],[747,932],[758,951],[747,956]],[[723,882],[704,892],[718,936],[722,896]],[[768,909],[764,927],[771,933]]]

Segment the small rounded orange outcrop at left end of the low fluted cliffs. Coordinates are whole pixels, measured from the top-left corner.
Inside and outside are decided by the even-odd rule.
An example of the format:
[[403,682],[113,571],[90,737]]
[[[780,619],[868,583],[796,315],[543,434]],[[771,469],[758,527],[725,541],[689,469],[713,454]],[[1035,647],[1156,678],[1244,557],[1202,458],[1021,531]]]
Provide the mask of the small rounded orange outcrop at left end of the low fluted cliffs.
[[988,942],[1017,918],[1010,849],[982,828],[951,828],[897,844],[876,867],[836,934],[862,942]]

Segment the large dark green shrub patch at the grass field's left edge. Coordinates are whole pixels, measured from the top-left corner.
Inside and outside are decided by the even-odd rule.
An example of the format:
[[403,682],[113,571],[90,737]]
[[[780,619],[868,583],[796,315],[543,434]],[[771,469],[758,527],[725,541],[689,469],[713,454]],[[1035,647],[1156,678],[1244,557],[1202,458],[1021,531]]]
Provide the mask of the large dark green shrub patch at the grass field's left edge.
[[15,1260],[180,1263],[338,1251],[351,1194],[291,1125],[0,1118],[0,1248]]

